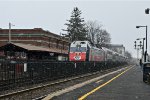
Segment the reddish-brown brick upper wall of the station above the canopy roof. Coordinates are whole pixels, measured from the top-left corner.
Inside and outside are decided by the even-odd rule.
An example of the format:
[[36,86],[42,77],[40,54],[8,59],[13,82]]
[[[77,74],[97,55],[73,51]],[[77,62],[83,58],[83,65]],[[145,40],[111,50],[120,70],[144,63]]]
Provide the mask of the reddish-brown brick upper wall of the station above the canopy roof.
[[[8,42],[8,32],[8,29],[0,29],[0,46]],[[12,29],[11,42],[64,50],[68,50],[69,46],[69,41],[67,39],[41,28]]]

